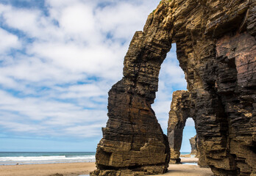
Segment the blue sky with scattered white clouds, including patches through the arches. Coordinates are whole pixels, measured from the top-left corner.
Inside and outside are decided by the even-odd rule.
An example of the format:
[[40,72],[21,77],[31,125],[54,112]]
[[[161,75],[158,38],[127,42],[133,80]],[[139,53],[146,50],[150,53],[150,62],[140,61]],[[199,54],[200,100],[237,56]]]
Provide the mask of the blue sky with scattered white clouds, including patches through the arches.
[[[0,151],[95,151],[107,92],[155,0],[0,0]],[[152,108],[166,133],[172,92],[186,89],[173,45]],[[182,143],[195,135],[188,120]]]

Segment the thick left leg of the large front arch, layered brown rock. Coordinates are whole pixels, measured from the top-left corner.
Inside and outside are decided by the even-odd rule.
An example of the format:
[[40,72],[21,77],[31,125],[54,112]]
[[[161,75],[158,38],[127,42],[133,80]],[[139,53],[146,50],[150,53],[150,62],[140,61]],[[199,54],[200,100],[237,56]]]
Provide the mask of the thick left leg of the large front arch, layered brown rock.
[[168,168],[168,139],[151,107],[160,65],[171,48],[171,27],[163,30],[165,15],[165,10],[151,15],[129,45],[124,78],[109,92],[109,120],[96,150],[97,169],[90,175],[163,174]]

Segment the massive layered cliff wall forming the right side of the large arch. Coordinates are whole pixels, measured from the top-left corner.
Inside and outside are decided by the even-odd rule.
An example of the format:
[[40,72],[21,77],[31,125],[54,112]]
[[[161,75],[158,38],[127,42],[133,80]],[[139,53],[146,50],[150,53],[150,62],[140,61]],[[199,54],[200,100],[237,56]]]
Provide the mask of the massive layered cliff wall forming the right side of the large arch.
[[256,2],[179,2],[174,40],[188,81],[199,164],[216,175],[254,175]]

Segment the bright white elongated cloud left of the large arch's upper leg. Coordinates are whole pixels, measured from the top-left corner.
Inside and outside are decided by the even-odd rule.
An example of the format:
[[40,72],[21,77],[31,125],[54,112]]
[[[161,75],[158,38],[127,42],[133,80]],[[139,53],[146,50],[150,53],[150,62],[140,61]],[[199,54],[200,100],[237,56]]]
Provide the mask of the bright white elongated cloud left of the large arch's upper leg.
[[80,46],[75,43],[35,43],[29,53],[48,59],[48,62],[53,65],[63,67],[73,73],[107,77],[108,72],[115,70],[116,74],[111,74],[121,75],[123,59],[121,59],[120,52],[118,50],[115,52],[113,48],[108,48],[104,44],[94,47]]

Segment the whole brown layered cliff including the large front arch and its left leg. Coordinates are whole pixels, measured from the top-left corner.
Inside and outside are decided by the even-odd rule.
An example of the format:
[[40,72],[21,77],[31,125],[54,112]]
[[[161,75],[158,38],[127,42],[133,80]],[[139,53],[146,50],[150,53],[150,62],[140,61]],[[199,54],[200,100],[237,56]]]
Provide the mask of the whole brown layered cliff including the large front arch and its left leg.
[[[255,23],[255,0],[161,1],[130,43],[124,78],[110,89],[91,175],[166,172],[169,145],[151,104],[171,43],[188,82],[187,107],[177,103],[172,116],[193,117],[199,153],[216,175],[256,175]],[[172,128],[170,141],[179,133]]]

